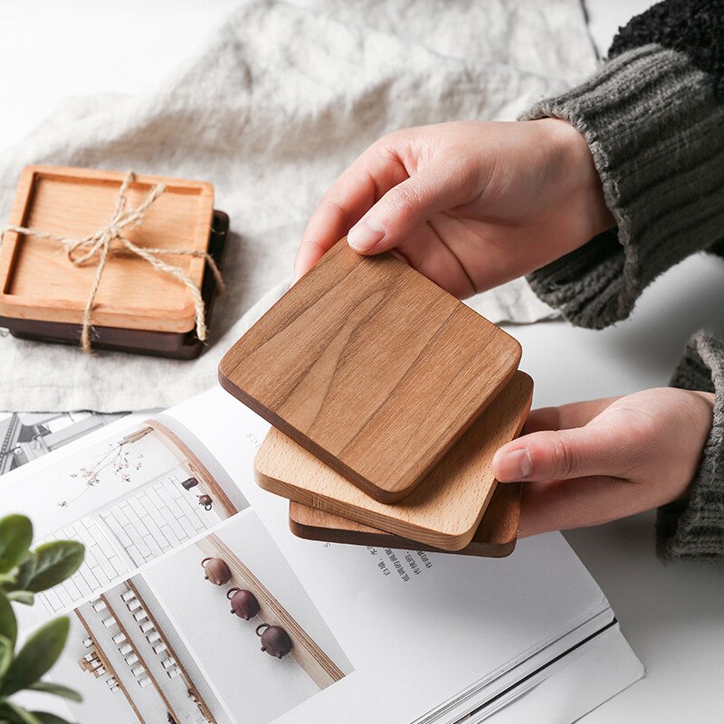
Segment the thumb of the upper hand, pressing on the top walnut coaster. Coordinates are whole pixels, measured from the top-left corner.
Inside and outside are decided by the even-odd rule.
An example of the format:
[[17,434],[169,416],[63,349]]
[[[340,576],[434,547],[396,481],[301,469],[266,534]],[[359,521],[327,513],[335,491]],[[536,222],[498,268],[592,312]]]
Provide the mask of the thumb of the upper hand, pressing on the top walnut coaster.
[[395,248],[434,214],[471,200],[472,183],[464,176],[459,167],[436,165],[405,178],[349,230],[349,245],[363,254]]

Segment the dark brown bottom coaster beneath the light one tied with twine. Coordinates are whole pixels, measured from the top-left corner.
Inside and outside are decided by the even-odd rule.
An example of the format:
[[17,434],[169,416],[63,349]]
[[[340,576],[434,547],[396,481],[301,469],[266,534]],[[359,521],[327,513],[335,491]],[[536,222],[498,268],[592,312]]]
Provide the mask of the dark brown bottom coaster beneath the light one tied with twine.
[[[228,231],[228,215],[223,211],[214,210],[208,252],[218,267],[221,267],[224,259]],[[201,284],[201,296],[204,299],[207,324],[212,317],[216,292],[216,277],[207,266],[204,271],[204,281]],[[8,329],[13,337],[41,342],[78,345],[81,339],[80,324],[0,316],[0,327]],[[121,329],[93,325],[90,329],[90,340],[94,349],[111,349],[116,352],[132,352],[137,355],[173,359],[194,359],[204,349],[204,343],[196,337],[195,329],[186,333],[154,332],[144,329]]]

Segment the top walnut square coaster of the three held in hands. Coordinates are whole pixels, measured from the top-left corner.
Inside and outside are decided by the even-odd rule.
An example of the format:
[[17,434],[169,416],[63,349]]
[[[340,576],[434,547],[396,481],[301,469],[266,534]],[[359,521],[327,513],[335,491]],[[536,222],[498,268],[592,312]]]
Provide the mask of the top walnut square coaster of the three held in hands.
[[376,500],[410,493],[519,343],[392,254],[338,242],[236,344],[221,385]]

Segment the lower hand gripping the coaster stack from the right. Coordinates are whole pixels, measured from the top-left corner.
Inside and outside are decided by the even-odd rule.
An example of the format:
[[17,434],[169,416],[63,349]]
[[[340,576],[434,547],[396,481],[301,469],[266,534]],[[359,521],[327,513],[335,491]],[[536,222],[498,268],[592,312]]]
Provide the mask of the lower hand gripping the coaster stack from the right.
[[520,537],[598,525],[684,498],[711,429],[714,395],[673,387],[544,407],[496,452],[524,481]]

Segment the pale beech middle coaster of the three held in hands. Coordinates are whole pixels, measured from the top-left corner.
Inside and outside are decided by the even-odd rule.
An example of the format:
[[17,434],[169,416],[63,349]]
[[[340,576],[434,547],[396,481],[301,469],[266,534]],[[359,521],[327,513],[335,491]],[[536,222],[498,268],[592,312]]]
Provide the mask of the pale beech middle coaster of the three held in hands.
[[402,538],[461,550],[475,535],[491,500],[492,456],[516,437],[530,407],[533,381],[510,383],[415,490],[395,504],[367,496],[279,430],[271,428],[254,460],[265,490]]

